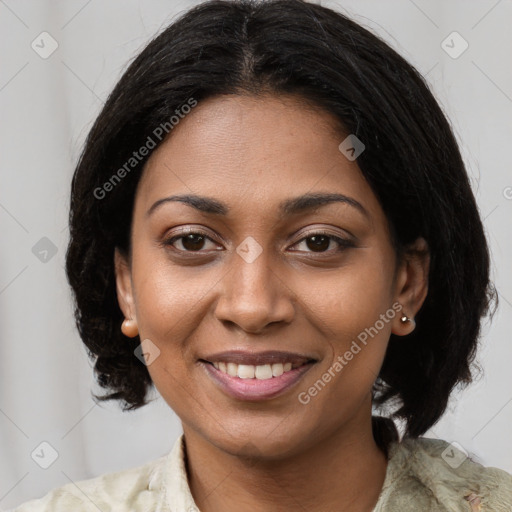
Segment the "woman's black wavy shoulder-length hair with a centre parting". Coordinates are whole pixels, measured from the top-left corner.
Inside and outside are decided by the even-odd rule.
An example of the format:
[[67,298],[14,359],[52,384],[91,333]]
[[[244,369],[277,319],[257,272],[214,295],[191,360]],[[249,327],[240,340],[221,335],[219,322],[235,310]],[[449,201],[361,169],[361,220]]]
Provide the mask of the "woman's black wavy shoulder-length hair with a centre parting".
[[[472,379],[481,318],[496,296],[482,222],[450,125],[422,76],[368,30],[302,0],[192,8],[136,57],[90,130],[72,181],[66,272],[80,336],[109,391],[96,398],[134,409],[152,386],[134,356],[140,340],[120,331],[115,286],[114,249],[130,255],[135,190],[155,148],[136,164],[134,150],[150,146],[148,137],[158,147],[165,137],[156,134],[172,133],[171,117],[191,98],[264,93],[296,95],[363,141],[357,162],[397,256],[418,237],[428,243],[417,327],[407,338],[391,335],[373,388],[374,404],[398,404],[392,417],[417,437],[439,420],[454,386]],[[112,181],[116,174],[122,182]],[[373,428],[384,449],[397,439],[390,418],[375,417]]]

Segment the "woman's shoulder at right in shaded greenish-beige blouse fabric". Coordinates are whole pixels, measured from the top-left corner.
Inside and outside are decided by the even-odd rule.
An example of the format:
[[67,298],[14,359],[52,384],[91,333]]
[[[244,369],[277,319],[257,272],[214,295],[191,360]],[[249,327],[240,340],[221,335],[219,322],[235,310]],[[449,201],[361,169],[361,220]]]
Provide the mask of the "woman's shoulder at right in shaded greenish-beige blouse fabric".
[[389,455],[381,510],[512,510],[512,475],[479,464],[456,444],[406,438],[393,443]]

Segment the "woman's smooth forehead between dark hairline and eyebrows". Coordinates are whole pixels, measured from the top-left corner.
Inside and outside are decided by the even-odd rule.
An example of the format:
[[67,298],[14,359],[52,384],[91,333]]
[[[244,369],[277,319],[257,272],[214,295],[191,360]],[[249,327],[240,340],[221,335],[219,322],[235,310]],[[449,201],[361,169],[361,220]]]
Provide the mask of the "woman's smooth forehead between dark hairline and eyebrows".
[[200,193],[247,210],[307,192],[376,198],[356,161],[338,149],[337,120],[290,96],[221,96],[200,102],[148,160],[136,202],[147,210],[176,193]]

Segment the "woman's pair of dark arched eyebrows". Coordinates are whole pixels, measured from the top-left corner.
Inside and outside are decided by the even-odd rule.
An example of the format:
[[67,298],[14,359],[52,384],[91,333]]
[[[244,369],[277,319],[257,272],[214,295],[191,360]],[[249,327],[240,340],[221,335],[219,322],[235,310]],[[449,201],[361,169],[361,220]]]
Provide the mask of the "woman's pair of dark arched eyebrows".
[[[195,208],[204,213],[210,213],[214,215],[227,215],[230,211],[229,207],[211,197],[198,196],[195,194],[183,194],[173,195],[159,199],[149,210],[146,212],[146,217],[149,217],[159,206],[168,202],[180,202]],[[370,214],[364,208],[364,206],[356,201],[354,198],[346,196],[344,194],[334,193],[309,193],[292,199],[286,199],[279,204],[279,211],[284,215],[293,215],[302,213],[306,210],[310,210],[315,207],[324,206],[331,203],[343,203],[352,206],[357,209],[360,213],[370,218]]]

